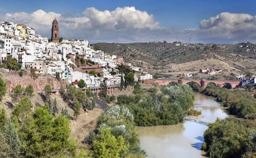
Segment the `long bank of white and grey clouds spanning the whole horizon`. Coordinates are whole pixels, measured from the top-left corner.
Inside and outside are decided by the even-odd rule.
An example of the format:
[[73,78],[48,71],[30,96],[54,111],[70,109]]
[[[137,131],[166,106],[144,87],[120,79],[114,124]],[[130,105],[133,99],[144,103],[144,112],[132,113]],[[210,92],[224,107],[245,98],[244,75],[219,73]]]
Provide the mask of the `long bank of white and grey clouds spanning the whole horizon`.
[[117,7],[115,10],[89,7],[77,17],[36,10],[32,14],[6,14],[4,20],[23,23],[35,28],[36,33],[50,37],[54,17],[59,22],[61,37],[88,39],[90,43],[164,40],[188,43],[190,39],[192,43],[256,42],[256,16],[229,12],[202,20],[198,28],[183,31],[161,27],[153,15],[135,7]]

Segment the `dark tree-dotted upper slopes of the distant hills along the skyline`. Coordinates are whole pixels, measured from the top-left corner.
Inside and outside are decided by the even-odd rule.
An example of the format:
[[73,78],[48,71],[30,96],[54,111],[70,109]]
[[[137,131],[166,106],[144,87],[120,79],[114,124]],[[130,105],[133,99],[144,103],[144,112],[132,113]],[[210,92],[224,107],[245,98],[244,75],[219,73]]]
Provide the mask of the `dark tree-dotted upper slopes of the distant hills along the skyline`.
[[[241,45],[243,47],[241,47]],[[151,65],[164,66],[168,64],[182,64],[185,62],[203,60],[203,59],[220,59],[223,60],[244,60],[244,58],[256,59],[254,51],[247,52],[249,49],[256,49],[252,43],[239,43],[230,45],[221,44],[181,44],[176,46],[175,43],[96,43],[92,44],[95,49],[112,53],[123,57],[125,60],[135,64],[141,61]],[[136,57],[137,60],[134,60]],[[220,57],[220,58],[218,58]],[[157,63],[155,61],[158,61]],[[224,61],[224,60],[223,60]]]

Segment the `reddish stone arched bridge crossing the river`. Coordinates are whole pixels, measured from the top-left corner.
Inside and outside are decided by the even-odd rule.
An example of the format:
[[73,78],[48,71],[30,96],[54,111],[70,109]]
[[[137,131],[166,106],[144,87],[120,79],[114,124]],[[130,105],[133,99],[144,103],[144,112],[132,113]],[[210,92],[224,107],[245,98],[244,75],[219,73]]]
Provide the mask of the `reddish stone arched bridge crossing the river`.
[[205,89],[209,83],[214,83],[218,87],[223,87],[224,83],[228,83],[231,85],[232,88],[236,88],[237,85],[240,84],[240,81],[230,81],[230,80],[186,80],[186,79],[151,79],[151,80],[144,80],[143,83],[151,84],[156,83],[157,85],[168,85],[171,82],[187,84],[189,82],[198,83],[198,85]]

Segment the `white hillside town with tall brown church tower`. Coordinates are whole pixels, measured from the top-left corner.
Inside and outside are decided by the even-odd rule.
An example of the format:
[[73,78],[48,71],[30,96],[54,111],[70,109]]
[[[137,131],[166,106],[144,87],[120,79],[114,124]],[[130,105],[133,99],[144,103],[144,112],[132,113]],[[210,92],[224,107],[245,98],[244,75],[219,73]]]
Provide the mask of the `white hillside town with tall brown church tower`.
[[[120,85],[122,74],[118,65],[134,70],[136,80],[151,79],[152,75],[139,67],[124,63],[121,57],[93,49],[87,40],[59,38],[58,21],[53,20],[51,39],[37,35],[32,27],[14,22],[1,22],[0,62],[11,56],[21,69],[33,72],[33,77],[51,75],[77,85],[85,81],[85,88]],[[114,72],[114,73],[113,73]],[[41,89],[35,89],[41,90]]]

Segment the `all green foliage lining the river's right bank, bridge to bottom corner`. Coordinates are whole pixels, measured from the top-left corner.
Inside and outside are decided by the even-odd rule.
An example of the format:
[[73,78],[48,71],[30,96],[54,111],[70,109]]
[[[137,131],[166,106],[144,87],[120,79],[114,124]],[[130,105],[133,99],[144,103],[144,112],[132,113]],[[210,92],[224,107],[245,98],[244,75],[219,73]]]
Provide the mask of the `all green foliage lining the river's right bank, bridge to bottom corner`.
[[256,104],[252,93],[208,86],[205,94],[223,102],[229,114],[237,117],[210,123],[202,149],[210,157],[256,157]]

